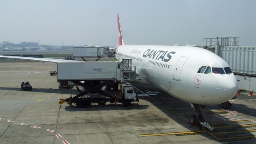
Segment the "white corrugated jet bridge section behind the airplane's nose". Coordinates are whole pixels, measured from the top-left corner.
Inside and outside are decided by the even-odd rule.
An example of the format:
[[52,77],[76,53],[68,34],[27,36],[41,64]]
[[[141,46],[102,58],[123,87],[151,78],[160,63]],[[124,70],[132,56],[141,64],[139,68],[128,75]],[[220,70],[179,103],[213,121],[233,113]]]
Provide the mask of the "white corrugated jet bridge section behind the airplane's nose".
[[256,47],[227,46],[221,49],[221,57],[233,72],[256,74]]

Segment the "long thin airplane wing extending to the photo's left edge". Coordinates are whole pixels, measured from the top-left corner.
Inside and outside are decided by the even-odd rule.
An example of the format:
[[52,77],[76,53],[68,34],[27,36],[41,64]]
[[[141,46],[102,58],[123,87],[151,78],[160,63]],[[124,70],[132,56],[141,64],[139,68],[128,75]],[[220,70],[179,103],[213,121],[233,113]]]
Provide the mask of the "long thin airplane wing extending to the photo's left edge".
[[23,56],[4,56],[0,55],[0,58],[15,58],[21,60],[34,60],[34,61],[41,61],[41,62],[82,62],[76,60],[62,60],[62,59],[55,59],[55,58],[31,58],[31,57],[23,57]]

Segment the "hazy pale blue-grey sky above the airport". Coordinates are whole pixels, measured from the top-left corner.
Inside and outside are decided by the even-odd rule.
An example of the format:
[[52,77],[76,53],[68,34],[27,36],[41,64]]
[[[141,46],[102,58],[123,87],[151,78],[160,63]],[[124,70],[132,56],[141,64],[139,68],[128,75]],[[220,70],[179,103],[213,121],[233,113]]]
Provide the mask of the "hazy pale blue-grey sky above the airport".
[[0,43],[203,45],[238,36],[256,46],[256,0],[0,0]]

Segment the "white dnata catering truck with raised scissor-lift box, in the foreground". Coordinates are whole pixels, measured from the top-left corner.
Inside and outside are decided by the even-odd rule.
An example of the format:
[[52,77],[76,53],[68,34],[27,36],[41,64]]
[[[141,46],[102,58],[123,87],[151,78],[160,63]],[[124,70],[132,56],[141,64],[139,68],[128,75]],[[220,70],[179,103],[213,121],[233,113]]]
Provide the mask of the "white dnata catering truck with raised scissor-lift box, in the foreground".
[[[72,67],[72,69],[70,69]],[[110,103],[123,103],[124,106],[130,106],[131,102],[138,101],[134,89],[129,86],[121,86],[125,80],[135,78],[135,70],[132,70],[131,59],[121,59],[103,62],[76,62],[76,63],[58,63],[58,80],[67,80],[73,82],[80,94],[60,99],[59,104],[67,102],[72,105],[86,107],[91,103],[106,104]],[[67,69],[69,68],[69,69]],[[112,96],[108,92],[102,90],[106,86],[106,90],[110,91],[114,88],[118,90],[118,85],[121,86],[121,94]],[[82,86],[80,90],[78,86]],[[101,94],[102,97],[95,98],[93,95]],[[86,95],[90,95],[87,97]]]

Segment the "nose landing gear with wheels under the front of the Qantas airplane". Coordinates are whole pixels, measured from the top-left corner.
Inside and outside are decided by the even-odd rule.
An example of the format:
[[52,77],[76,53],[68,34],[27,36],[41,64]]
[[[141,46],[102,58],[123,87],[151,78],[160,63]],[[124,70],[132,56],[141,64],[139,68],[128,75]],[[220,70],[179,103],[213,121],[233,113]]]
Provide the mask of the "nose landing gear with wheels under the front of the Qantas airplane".
[[198,125],[199,128],[205,127],[212,131],[214,129],[214,127],[210,126],[206,121],[204,121],[204,117],[201,114],[200,109],[205,108],[205,105],[190,104],[190,106],[192,107],[192,109],[194,110],[194,113],[195,113],[190,116],[190,124]]

